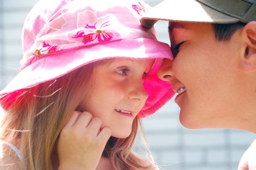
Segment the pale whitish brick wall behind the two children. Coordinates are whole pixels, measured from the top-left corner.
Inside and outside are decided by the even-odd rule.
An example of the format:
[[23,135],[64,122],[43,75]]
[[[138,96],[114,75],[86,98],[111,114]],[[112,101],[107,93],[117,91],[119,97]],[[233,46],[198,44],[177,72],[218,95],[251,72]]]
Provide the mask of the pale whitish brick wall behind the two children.
[[[162,0],[145,1],[154,6]],[[36,2],[0,0],[0,89],[18,73],[22,24]],[[156,29],[160,41],[168,43],[167,22],[158,22]],[[143,123],[155,161],[164,170],[237,170],[239,158],[255,138],[239,130],[186,129],[173,100]],[[134,150],[144,155],[137,146]]]

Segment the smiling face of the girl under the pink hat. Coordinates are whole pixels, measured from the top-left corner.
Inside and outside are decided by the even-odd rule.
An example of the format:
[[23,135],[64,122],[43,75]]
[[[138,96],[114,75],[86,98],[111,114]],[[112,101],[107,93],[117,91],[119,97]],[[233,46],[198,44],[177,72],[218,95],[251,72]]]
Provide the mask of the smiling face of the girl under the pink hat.
[[143,82],[153,62],[153,59],[113,59],[93,68],[83,109],[100,118],[102,126],[110,127],[111,136],[130,135],[133,119],[148,96]]

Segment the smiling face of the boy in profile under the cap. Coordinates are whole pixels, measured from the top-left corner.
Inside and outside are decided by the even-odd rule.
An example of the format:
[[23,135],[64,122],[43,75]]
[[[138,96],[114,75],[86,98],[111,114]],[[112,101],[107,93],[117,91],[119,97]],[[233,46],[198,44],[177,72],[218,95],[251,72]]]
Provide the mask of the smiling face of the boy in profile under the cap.
[[233,127],[244,98],[238,83],[239,34],[217,41],[211,24],[169,22],[169,36],[176,56],[165,59],[159,77],[170,81],[175,92],[186,89],[175,99],[181,123],[188,128]]

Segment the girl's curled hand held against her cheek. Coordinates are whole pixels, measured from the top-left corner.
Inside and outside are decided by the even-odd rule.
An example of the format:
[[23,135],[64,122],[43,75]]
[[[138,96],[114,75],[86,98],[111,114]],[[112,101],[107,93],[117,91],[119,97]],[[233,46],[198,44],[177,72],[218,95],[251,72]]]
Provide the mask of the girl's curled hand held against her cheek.
[[95,170],[110,135],[101,119],[75,111],[59,136],[59,170]]

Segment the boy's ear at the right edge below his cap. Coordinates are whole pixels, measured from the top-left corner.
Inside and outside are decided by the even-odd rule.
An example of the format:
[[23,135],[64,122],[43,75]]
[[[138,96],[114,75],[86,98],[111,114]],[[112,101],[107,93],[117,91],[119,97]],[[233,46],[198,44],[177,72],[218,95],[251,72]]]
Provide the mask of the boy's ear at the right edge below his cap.
[[256,71],[256,21],[247,23],[242,29],[242,61],[241,68],[246,72]]

